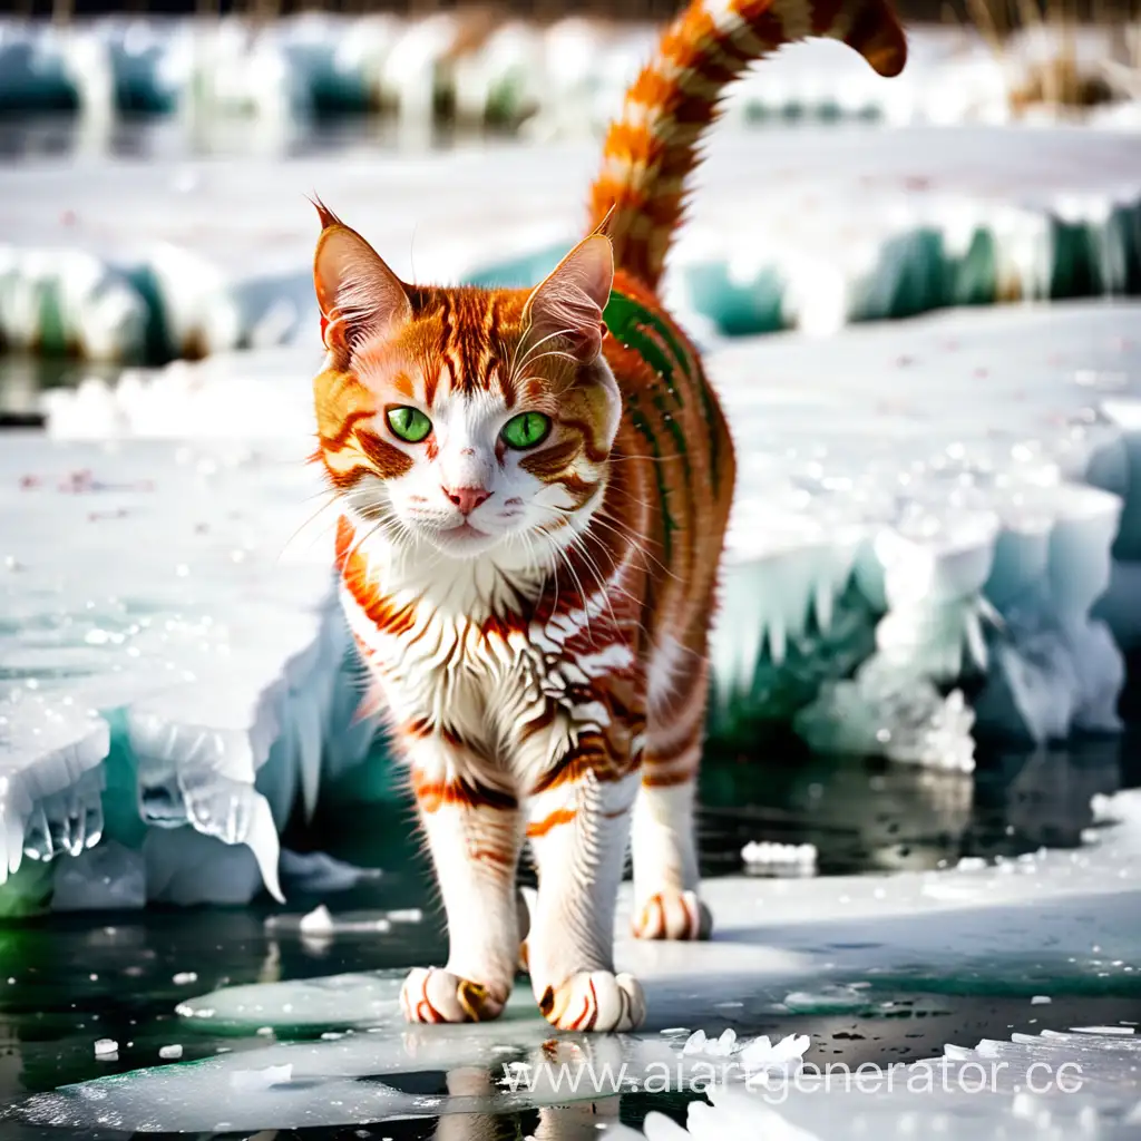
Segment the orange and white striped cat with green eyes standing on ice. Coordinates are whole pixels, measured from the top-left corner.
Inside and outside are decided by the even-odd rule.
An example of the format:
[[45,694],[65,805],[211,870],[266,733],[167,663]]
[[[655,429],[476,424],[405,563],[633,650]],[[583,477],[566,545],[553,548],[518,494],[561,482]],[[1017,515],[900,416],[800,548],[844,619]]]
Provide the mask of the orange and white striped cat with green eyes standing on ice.
[[450,932],[404,985],[413,1022],[495,1018],[523,957],[553,1026],[637,1027],[613,961],[628,844],[633,933],[710,934],[694,804],[734,447],[656,290],[723,88],[808,35],[882,75],[906,58],[887,0],[690,3],[609,130],[588,235],[534,289],[402,282],[316,203],[341,594]]

